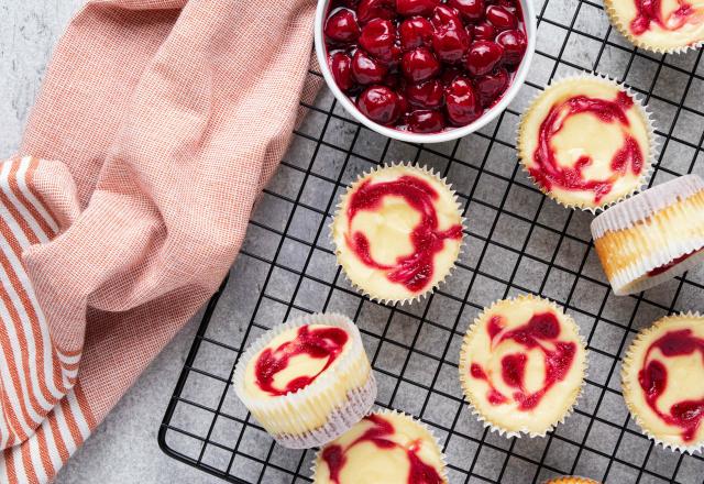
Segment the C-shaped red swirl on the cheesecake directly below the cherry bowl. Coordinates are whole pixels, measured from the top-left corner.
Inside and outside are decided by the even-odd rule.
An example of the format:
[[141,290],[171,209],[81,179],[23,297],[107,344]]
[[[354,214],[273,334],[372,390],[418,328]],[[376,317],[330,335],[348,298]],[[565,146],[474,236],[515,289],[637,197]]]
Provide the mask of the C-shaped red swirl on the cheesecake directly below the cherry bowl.
[[462,238],[462,226],[448,230],[438,230],[438,213],[433,201],[438,193],[425,180],[405,175],[394,182],[372,185],[366,180],[352,194],[348,208],[349,232],[352,221],[360,211],[376,211],[382,207],[384,197],[402,197],[418,213],[420,222],[410,233],[414,251],[400,256],[394,265],[380,264],[372,257],[370,242],[362,232],[348,235],[346,243],[358,257],[367,266],[387,271],[386,277],[393,283],[403,284],[414,293],[420,293],[432,280],[433,257],[444,245],[446,239]]

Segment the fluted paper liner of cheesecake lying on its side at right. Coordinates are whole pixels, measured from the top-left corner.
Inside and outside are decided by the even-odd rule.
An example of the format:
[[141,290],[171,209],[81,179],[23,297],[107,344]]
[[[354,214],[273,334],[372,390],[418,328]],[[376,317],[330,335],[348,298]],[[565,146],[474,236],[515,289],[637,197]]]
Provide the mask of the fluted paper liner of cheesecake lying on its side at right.
[[[684,221],[688,233],[682,231]],[[659,237],[649,238],[640,232],[654,223],[661,228]],[[681,275],[702,262],[704,253],[661,274],[647,276],[650,271],[704,248],[704,182],[696,175],[685,175],[645,190],[596,217],[592,221],[592,237],[616,295],[640,293]],[[612,237],[619,238],[618,246],[624,248],[624,253],[613,249],[616,241],[609,242],[606,250],[605,241]],[[638,251],[634,250],[636,243]],[[622,261],[619,257],[626,254],[637,258]],[[622,264],[626,265],[620,267]]]

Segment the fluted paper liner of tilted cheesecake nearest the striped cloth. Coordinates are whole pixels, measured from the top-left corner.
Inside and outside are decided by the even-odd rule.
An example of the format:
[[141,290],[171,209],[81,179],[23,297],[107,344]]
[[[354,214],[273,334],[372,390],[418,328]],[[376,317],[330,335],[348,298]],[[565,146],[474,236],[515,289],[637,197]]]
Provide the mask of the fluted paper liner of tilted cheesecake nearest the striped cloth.
[[[252,398],[244,389],[248,363],[274,338],[307,324],[344,329],[349,348],[312,383],[287,395]],[[334,440],[374,405],[376,381],[356,326],[338,314],[306,315],[279,324],[250,345],[234,371],[238,397],[274,439],[290,449],[308,449]],[[315,424],[311,424],[315,422]]]

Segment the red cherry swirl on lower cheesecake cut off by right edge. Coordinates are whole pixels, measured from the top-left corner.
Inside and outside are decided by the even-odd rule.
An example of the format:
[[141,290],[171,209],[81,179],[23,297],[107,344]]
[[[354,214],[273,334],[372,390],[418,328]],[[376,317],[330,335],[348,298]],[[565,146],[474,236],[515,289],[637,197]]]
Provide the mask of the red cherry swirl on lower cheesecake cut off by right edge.
[[660,350],[666,358],[684,356],[698,351],[702,353],[704,364],[704,339],[696,338],[690,329],[669,331],[650,344],[644,359],[644,369],[638,372],[638,383],[645,393],[648,406],[666,424],[680,427],[682,440],[691,442],[704,419],[704,398],[678,402],[670,407],[669,414],[660,410],[658,399],[668,386],[668,369],[662,362],[650,359],[654,349]]

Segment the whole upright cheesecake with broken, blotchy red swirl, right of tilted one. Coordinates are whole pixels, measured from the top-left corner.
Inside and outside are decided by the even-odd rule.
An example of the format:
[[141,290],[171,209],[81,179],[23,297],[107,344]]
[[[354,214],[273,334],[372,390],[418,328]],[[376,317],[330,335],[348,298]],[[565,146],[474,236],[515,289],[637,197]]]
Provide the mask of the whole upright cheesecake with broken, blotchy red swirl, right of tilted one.
[[574,320],[532,295],[504,299],[470,327],[460,381],[480,419],[509,437],[544,436],[574,406],[586,349]]

